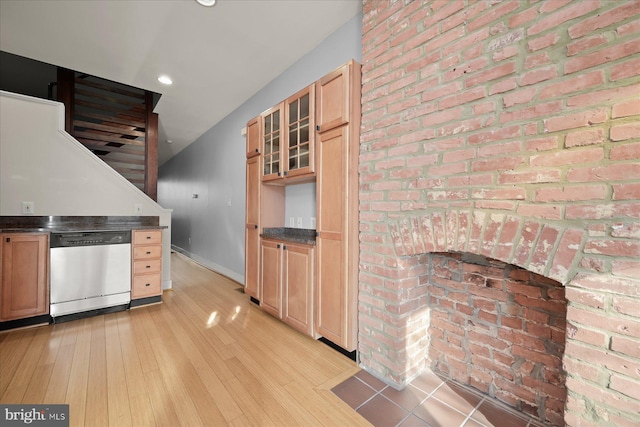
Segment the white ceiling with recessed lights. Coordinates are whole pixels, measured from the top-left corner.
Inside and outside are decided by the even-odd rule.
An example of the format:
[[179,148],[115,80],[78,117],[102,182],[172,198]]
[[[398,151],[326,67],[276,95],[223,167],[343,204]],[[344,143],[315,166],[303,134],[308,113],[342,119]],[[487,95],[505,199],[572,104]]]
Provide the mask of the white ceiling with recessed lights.
[[0,50],[161,93],[163,164],[361,10],[359,0],[0,0]]

